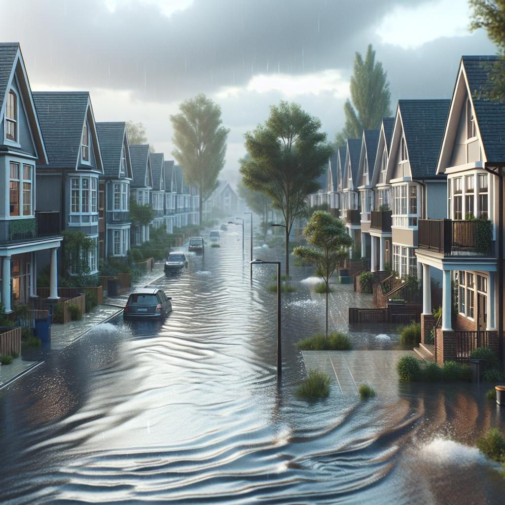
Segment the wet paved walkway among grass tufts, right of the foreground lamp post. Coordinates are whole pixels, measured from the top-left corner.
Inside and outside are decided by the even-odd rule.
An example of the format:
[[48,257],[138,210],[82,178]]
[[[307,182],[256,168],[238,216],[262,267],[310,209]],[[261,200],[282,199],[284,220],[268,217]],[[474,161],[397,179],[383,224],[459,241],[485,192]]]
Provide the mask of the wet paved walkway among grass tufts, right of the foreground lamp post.
[[378,396],[397,396],[396,364],[413,350],[304,350],[306,369],[314,368],[334,378],[344,396],[357,395],[361,384],[372,386]]

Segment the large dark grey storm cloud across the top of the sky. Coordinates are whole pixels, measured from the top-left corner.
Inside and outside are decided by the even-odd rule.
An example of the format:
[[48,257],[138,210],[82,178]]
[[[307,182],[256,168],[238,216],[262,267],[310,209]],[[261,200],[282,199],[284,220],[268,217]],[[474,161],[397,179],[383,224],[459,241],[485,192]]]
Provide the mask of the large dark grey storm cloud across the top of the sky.
[[[4,39],[18,40],[37,81],[133,90],[177,100],[251,75],[348,68],[367,32],[400,0],[195,0],[170,18],[156,5],[21,0]],[[411,0],[410,4],[422,3]],[[19,27],[23,31],[19,32]]]

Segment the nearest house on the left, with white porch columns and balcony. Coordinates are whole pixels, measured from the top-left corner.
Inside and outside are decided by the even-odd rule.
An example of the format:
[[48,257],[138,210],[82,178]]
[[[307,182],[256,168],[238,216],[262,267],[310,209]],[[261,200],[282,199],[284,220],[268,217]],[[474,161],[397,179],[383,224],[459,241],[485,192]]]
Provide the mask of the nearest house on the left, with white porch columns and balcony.
[[40,121],[19,43],[0,43],[0,167],[4,188],[0,201],[0,300],[29,304],[37,292],[37,255],[50,259],[49,296],[58,298],[57,251],[61,209],[36,206],[38,166],[48,164]]

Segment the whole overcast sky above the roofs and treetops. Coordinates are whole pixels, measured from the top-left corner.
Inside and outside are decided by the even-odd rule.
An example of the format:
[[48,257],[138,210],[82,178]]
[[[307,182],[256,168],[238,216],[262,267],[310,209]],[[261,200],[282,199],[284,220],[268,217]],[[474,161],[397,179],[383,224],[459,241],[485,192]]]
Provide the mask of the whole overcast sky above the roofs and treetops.
[[333,140],[356,51],[373,43],[398,98],[450,98],[460,57],[494,54],[470,33],[467,0],[0,0],[0,37],[21,43],[32,90],[89,90],[97,121],[141,121],[172,159],[170,114],[203,91],[231,131],[222,178],[237,180],[243,133],[280,99]]

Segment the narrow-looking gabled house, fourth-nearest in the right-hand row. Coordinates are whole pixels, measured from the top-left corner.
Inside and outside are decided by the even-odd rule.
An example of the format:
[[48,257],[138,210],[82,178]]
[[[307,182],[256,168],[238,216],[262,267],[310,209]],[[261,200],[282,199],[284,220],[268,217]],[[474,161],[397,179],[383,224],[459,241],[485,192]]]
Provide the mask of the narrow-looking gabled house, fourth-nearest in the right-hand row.
[[361,142],[360,163],[358,166],[357,185],[361,205],[361,257],[367,257],[367,235],[370,236],[370,216],[373,207],[373,190],[371,186],[372,170],[377,155],[379,130],[365,130]]

